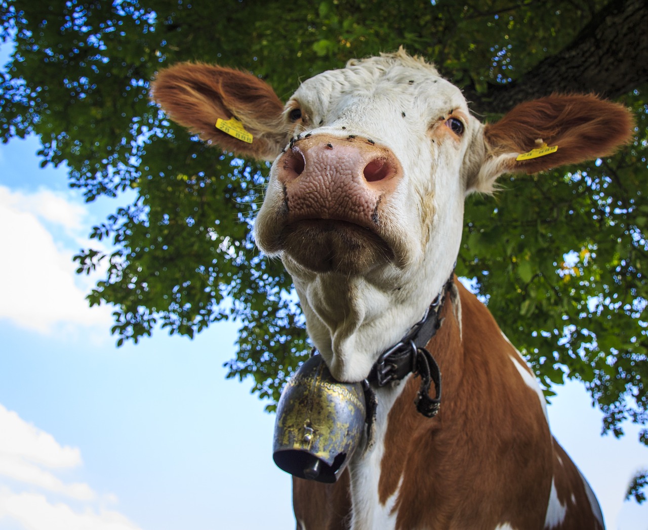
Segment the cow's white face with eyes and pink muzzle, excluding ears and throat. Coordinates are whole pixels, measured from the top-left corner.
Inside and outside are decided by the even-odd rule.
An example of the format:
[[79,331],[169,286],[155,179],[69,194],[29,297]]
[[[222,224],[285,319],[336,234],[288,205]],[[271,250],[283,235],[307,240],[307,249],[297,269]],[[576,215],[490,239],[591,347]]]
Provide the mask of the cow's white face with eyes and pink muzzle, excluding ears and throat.
[[[481,124],[461,91],[407,56],[351,61],[288,100],[294,131],[255,224],[264,252],[300,272],[452,270],[465,153]],[[302,271],[303,269],[303,271]]]

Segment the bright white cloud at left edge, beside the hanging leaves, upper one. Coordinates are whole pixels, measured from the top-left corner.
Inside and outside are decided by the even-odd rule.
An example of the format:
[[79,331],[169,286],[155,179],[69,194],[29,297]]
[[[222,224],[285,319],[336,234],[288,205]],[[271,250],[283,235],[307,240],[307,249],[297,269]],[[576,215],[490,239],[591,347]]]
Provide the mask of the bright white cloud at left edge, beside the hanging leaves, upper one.
[[[0,318],[51,334],[60,329],[99,326],[107,330],[111,309],[89,308],[87,278],[76,275],[72,257],[86,240],[86,210],[64,193],[23,193],[0,186]],[[66,248],[54,234],[73,240]],[[85,285],[84,285],[85,284]],[[107,334],[106,334],[107,335]]]

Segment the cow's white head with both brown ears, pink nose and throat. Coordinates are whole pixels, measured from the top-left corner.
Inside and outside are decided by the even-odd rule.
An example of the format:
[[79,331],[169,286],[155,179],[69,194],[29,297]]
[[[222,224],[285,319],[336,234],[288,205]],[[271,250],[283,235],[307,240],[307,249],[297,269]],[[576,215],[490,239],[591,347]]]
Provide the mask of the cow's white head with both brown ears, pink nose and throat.
[[[285,105],[259,78],[203,64],[161,71],[152,94],[203,140],[273,160],[257,244],[283,260],[341,381],[364,379],[439,292],[467,193],[491,192],[503,172],[603,156],[632,125],[591,95],[527,102],[484,125],[457,87],[402,50],[323,72]],[[251,143],[214,126],[232,116]],[[517,160],[541,144],[557,150]]]

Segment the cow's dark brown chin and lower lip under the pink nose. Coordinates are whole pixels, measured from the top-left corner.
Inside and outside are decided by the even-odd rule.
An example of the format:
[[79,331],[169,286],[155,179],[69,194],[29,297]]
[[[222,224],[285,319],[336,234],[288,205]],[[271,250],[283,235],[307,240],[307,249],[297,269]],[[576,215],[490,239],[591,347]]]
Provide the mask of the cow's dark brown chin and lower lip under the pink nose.
[[375,232],[332,219],[305,219],[284,226],[281,247],[284,257],[318,273],[364,274],[393,261],[393,252]]

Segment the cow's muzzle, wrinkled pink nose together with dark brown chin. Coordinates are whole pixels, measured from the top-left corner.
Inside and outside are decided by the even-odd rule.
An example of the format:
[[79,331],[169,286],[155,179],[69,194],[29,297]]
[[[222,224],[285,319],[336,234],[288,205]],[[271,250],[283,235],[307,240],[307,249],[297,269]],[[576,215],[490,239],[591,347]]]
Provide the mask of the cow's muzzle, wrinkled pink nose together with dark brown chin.
[[388,148],[359,136],[313,135],[292,142],[274,171],[283,195],[273,197],[281,201],[272,207],[273,228],[257,230],[273,232],[257,239],[264,250],[314,272],[360,274],[393,259],[382,216],[402,168]]

